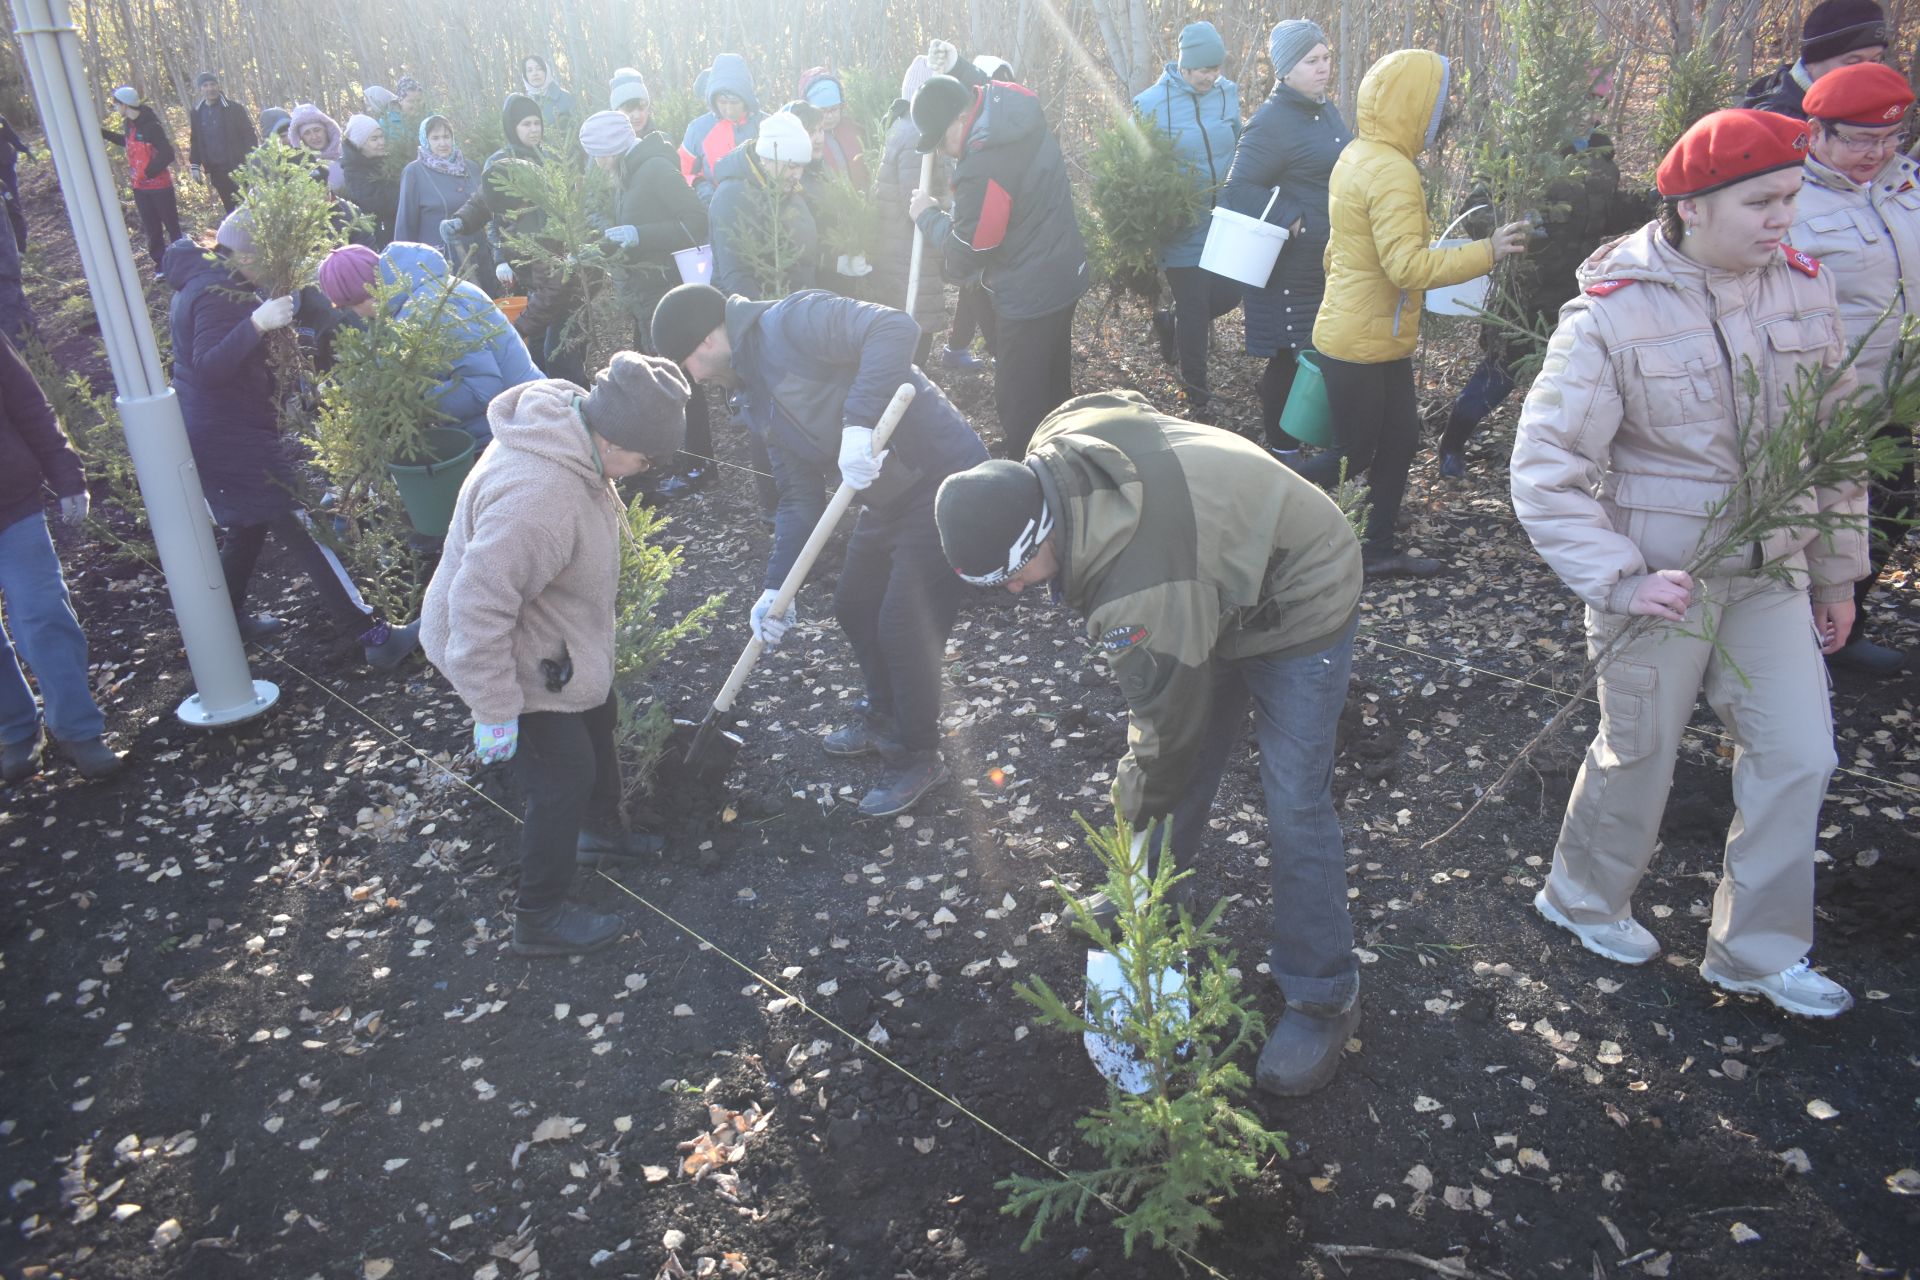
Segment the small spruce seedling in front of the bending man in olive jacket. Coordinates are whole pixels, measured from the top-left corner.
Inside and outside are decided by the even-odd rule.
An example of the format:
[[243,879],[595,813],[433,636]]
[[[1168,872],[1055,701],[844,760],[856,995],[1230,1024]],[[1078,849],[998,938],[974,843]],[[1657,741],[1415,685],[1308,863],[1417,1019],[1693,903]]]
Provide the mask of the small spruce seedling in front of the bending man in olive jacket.
[[[1129,1257],[1140,1238],[1156,1249],[1188,1249],[1219,1226],[1219,1197],[1256,1178],[1265,1161],[1286,1159],[1286,1134],[1238,1105],[1250,1080],[1235,1059],[1260,1046],[1265,1025],[1240,992],[1233,954],[1219,950],[1225,900],[1202,919],[1173,904],[1175,885],[1192,873],[1173,867],[1171,823],[1148,825],[1146,839],[1135,841],[1125,819],[1100,831],[1079,814],[1073,821],[1106,873],[1116,925],[1104,927],[1073,894],[1062,896],[1079,931],[1119,961],[1133,998],[1089,988],[1085,1007],[1075,1009],[1044,979],[1014,990],[1044,1025],[1129,1050],[1146,1069],[1146,1090],[1129,1094],[1108,1082],[1106,1103],[1073,1123],[1100,1167],[1064,1178],[1004,1178],[1000,1213],[1033,1215],[1021,1249],[1068,1213],[1079,1224],[1092,1205],[1116,1213]],[[1150,858],[1156,837],[1160,852]],[[1175,988],[1167,975],[1181,969],[1187,981]]]

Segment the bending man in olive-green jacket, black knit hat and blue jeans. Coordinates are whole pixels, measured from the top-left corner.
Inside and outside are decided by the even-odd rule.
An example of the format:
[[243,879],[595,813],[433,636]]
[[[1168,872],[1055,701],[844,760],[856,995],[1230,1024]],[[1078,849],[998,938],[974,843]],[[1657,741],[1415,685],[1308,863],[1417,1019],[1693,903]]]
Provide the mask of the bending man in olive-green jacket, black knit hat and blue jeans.
[[[935,514],[960,578],[1014,595],[1050,583],[1087,618],[1131,716],[1114,804],[1137,833],[1169,819],[1181,865],[1254,708],[1269,963],[1286,998],[1256,1080],[1283,1098],[1325,1086],[1359,1027],[1332,804],[1363,578],[1346,516],[1260,445],[1160,415],[1139,391],[1069,399],[1025,462],[952,476]],[[1112,919],[1104,894],[1087,906]]]

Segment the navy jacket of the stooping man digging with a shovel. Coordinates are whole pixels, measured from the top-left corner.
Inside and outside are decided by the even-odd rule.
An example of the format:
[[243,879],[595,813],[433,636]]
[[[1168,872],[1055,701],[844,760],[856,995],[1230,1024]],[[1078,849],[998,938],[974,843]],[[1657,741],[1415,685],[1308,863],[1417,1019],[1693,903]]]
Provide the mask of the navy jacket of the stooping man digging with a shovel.
[[766,441],[780,486],[766,587],[793,568],[839,486],[843,426],[874,426],[902,382],[914,403],[893,432],[879,480],[860,493],[876,520],[929,503],[941,480],[987,461],[952,401],[914,367],[920,326],[904,311],[804,290],[780,301],[730,297],[726,334],[747,426]]

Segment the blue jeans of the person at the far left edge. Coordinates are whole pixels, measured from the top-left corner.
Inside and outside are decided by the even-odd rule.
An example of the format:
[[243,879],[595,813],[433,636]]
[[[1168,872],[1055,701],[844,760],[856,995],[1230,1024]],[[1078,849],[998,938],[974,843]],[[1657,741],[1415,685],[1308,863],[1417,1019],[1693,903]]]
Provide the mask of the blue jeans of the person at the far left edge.
[[6,626],[0,628],[0,743],[12,747],[40,731],[40,708],[19,670],[15,645],[40,681],[46,727],[54,737],[63,743],[100,737],[108,720],[86,687],[86,633],[73,616],[67,580],[60,572],[44,514],[0,530],[0,599],[6,601]]

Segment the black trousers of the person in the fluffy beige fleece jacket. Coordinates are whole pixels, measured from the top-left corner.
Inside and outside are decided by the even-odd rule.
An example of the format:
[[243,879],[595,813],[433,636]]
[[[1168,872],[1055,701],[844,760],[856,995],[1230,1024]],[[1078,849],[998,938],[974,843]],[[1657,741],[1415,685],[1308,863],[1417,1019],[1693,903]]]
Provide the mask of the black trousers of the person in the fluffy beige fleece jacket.
[[526,793],[526,821],[516,912],[545,912],[564,902],[580,829],[612,827],[620,810],[620,752],[612,743],[618,716],[620,695],[612,691],[588,712],[520,716],[513,766]]

